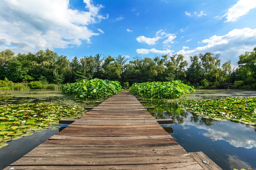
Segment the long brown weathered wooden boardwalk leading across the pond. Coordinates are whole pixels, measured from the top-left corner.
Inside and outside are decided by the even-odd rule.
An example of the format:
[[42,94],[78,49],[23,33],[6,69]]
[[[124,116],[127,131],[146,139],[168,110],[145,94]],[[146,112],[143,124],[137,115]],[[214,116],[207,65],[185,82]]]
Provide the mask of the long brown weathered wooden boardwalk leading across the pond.
[[202,170],[128,92],[90,110],[5,170]]

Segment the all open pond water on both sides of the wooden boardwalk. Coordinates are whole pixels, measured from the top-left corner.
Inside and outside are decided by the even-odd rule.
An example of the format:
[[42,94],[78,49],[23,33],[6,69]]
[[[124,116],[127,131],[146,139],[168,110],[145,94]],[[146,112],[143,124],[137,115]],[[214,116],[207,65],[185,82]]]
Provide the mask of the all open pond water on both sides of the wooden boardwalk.
[[[19,104],[33,102],[54,102],[93,106],[94,102],[74,100],[57,91],[5,92],[0,95],[1,104]],[[226,98],[226,96],[256,96],[256,91],[198,90],[186,96],[191,99]],[[184,111],[170,101],[148,100],[147,106],[155,106],[151,114],[160,119],[171,118],[174,124],[162,125],[172,128],[169,133],[187,152],[202,151],[224,170],[233,168],[256,169],[256,128],[231,121],[206,119]],[[65,125],[63,125],[65,126]],[[9,142],[9,146],[0,149],[0,169],[18,160],[34,147],[46,141],[58,130],[47,130],[28,137]]]

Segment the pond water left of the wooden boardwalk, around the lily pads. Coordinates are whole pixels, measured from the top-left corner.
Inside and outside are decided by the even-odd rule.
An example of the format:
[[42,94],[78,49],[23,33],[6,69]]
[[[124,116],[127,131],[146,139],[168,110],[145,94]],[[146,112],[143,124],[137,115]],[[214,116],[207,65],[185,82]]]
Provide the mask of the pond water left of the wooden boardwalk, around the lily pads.
[[[2,104],[23,104],[23,103],[59,103],[70,104],[75,106],[96,106],[95,102],[85,102],[75,100],[72,96],[61,94],[59,91],[53,90],[31,90],[31,91],[2,91],[0,92],[0,105]],[[59,125],[58,125],[59,126]],[[67,126],[62,124],[62,127]],[[61,129],[60,128],[60,129]],[[8,146],[0,149],[0,169],[5,168],[12,162],[18,160],[30,150],[40,145],[52,135],[59,132],[58,130],[42,131],[34,133],[28,137],[8,142]]]

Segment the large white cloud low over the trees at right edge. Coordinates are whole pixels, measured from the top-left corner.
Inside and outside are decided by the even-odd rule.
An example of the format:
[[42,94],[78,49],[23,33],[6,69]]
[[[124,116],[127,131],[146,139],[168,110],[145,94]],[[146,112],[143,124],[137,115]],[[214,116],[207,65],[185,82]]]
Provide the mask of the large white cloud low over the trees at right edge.
[[184,55],[188,61],[190,56],[198,55],[199,53],[219,53],[223,63],[228,60],[234,63],[238,61],[239,55],[244,54],[246,51],[252,51],[256,47],[256,29],[233,29],[226,35],[213,35],[209,39],[202,40],[201,43],[206,45],[188,51],[182,49],[177,53]]

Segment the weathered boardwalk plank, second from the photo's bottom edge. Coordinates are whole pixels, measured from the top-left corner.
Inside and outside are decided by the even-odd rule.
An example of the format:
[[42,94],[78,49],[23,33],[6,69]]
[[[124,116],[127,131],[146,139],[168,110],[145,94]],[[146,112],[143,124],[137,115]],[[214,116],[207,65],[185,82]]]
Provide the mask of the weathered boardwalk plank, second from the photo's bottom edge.
[[161,164],[161,163],[182,163],[195,162],[190,154],[165,155],[165,156],[134,156],[134,157],[22,157],[11,166],[17,165],[130,165],[130,164]]

